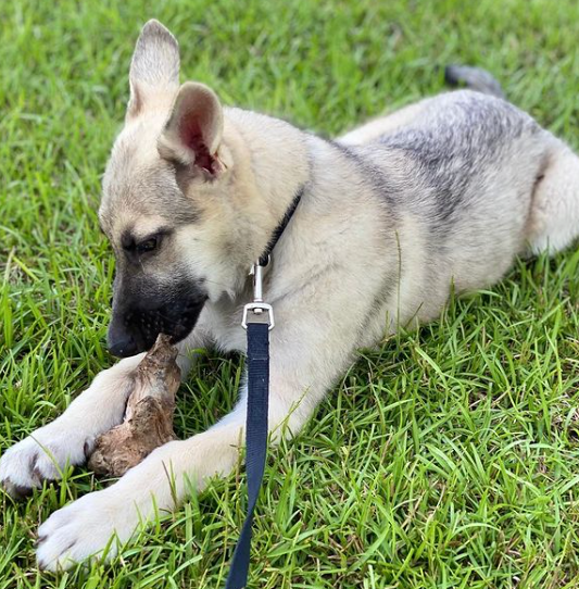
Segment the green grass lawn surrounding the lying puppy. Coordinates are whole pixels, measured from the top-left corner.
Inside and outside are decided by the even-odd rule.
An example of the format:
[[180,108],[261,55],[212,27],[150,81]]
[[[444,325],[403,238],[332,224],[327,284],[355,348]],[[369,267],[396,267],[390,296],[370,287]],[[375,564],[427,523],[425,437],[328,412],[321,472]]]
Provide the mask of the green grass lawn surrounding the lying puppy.
[[[275,11],[274,11],[275,8]],[[181,42],[184,77],[227,104],[332,135],[481,65],[579,148],[575,0],[3,0],[0,3],[0,451],[113,363],[100,175],[140,26]],[[579,587],[579,251],[364,351],[272,452],[252,588]],[[232,404],[238,358],[207,351],[179,393],[191,436]],[[40,574],[38,523],[105,481],[78,468],[0,491],[0,589],[222,587],[244,474],[215,481],[111,565]]]

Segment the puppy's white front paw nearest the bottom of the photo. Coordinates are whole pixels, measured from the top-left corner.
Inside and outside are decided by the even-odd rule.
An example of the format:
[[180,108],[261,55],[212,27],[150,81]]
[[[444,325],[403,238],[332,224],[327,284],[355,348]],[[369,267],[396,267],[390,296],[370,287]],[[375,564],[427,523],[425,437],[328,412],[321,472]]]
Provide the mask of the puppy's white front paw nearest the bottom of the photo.
[[54,512],[38,529],[36,556],[40,568],[71,568],[87,559],[109,560],[139,526],[130,498],[95,491]]

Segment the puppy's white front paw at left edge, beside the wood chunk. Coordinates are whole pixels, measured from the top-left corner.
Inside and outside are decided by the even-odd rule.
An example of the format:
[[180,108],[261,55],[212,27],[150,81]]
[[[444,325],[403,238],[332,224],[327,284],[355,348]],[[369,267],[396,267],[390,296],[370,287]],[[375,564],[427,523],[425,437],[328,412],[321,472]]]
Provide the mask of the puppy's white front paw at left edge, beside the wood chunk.
[[53,422],[7,450],[0,459],[0,485],[14,498],[29,494],[42,480],[61,478],[66,465],[81,464],[95,438]]

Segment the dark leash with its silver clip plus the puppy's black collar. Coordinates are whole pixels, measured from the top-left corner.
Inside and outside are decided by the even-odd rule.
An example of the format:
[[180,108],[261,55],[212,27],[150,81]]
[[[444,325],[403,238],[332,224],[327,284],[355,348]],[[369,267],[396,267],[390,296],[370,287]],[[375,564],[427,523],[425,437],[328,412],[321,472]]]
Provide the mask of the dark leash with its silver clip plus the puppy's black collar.
[[248,476],[248,513],[237,541],[225,589],[243,589],[248,582],[253,512],[262,486],[267,455],[267,409],[269,404],[269,330],[274,328],[272,305],[263,302],[263,268],[279,241],[300,200],[302,187],[281,223],[274,231],[263,255],[253,264],[253,302],[243,310],[242,326],[248,330],[248,416],[246,422],[246,473]]

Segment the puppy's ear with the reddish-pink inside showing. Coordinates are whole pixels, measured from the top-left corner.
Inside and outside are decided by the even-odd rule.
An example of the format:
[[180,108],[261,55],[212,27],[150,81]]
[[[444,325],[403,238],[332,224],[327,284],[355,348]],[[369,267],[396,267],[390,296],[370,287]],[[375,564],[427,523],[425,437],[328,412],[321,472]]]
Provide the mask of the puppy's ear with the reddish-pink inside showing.
[[159,138],[162,158],[215,177],[224,170],[219,159],[223,108],[215,92],[203,84],[186,82]]

